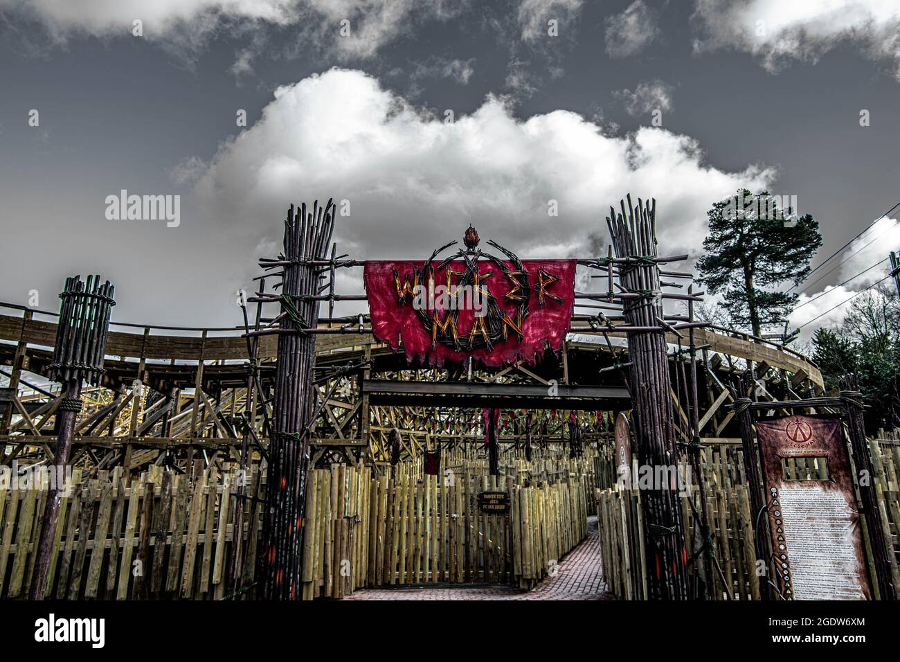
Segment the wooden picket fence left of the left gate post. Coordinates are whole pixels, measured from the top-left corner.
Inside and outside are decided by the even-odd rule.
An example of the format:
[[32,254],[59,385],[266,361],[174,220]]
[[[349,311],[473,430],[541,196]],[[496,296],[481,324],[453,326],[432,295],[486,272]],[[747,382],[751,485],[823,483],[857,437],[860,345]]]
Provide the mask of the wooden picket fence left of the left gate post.
[[[72,476],[62,498],[47,596],[57,599],[219,599],[234,540],[236,476],[215,467],[188,476],[151,467],[125,485],[121,468]],[[257,476],[247,475],[250,485]],[[28,595],[46,491],[0,490],[0,598]],[[247,506],[254,553],[261,513]],[[249,558],[252,558],[250,556]],[[245,568],[253,582],[254,566]]]

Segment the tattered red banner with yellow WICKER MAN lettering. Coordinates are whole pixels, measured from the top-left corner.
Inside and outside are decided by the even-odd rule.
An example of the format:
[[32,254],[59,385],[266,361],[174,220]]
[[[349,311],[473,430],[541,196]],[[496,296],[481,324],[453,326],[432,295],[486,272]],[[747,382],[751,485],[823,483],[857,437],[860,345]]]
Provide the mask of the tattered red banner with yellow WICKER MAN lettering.
[[437,367],[533,364],[562,349],[575,299],[573,259],[369,260],[364,279],[375,338]]

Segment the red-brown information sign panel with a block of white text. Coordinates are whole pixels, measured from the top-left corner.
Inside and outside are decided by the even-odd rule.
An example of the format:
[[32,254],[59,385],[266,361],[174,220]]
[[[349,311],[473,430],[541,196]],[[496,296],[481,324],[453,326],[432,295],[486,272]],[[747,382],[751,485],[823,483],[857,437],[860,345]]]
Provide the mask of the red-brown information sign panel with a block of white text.
[[841,419],[785,416],[756,422],[756,431],[781,594],[871,600]]

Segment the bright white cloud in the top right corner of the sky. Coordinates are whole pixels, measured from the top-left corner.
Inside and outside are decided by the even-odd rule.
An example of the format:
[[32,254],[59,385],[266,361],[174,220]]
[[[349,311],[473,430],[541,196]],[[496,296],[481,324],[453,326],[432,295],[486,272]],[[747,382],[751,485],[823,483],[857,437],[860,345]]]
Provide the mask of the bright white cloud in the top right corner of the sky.
[[842,42],[869,59],[888,61],[900,80],[897,0],[698,0],[695,50],[735,48],[772,72],[788,60],[815,63]]

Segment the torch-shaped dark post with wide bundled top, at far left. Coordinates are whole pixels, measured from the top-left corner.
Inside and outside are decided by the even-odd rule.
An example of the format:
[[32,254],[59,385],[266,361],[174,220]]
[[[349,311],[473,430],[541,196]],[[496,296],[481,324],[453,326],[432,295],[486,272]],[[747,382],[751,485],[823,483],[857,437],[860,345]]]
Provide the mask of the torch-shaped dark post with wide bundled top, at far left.
[[53,457],[54,474],[49,485],[47,504],[40,525],[40,539],[36,551],[34,575],[31,576],[31,600],[43,600],[47,593],[47,577],[53,563],[53,542],[59,520],[59,505],[67,485],[68,459],[75,436],[75,423],[81,411],[81,382],[96,385],[103,373],[103,350],[109,331],[110,314],[115,302],[115,288],[109,281],[100,284],[99,276],[80,276],[66,279],[59,298],[59,322],[50,378],[63,386],[62,402],[58,408],[57,447]]

